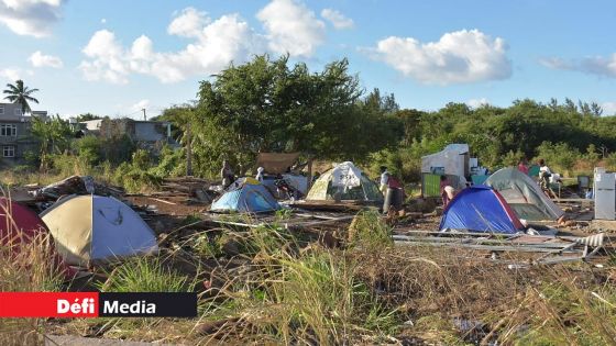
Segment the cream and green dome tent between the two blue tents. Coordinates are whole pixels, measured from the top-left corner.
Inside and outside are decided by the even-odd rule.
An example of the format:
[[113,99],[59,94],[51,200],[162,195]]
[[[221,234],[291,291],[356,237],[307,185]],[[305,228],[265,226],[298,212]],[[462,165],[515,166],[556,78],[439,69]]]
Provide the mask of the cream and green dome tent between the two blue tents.
[[[317,181],[312,185],[310,191],[306,196],[307,201],[324,201],[333,200],[336,192],[339,187],[334,186],[332,182],[336,180],[336,175],[340,174],[341,166],[348,165],[350,163],[341,164],[326,172],[323,172]],[[352,164],[351,164],[352,165]],[[369,202],[382,202],[383,194],[378,190],[376,182],[370,180],[370,178],[359,170],[359,168],[353,166],[353,170],[358,172],[359,186],[351,188],[343,188],[341,190],[340,199],[343,201],[369,201]]]

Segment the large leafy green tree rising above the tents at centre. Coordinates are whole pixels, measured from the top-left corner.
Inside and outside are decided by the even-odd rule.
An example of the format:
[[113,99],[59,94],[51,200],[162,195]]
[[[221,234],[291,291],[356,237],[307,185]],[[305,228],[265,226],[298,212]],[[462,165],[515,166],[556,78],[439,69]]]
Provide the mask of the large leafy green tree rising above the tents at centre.
[[302,63],[289,66],[288,56],[262,55],[201,81],[193,127],[202,139],[195,158],[213,174],[223,158],[246,169],[260,152],[354,160],[397,143],[389,130],[398,120],[382,111],[395,111],[393,96],[374,96],[378,107],[365,107],[359,79],[348,69],[345,59],[310,72]]

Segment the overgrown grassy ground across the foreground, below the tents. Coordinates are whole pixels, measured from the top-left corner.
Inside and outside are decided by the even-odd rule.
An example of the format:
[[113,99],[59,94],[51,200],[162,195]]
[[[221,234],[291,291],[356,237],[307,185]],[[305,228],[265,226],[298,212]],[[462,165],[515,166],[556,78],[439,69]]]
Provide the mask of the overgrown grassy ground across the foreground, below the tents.
[[[284,217],[284,215],[280,215]],[[102,291],[197,291],[199,317],[0,320],[7,343],[43,333],[205,345],[616,343],[616,256],[509,269],[462,250],[394,247],[371,212],[326,248],[276,225],[167,238],[156,257],[99,268]],[[344,232],[342,232],[344,233]],[[64,290],[44,242],[2,253],[0,290]],[[18,255],[10,255],[18,254]]]

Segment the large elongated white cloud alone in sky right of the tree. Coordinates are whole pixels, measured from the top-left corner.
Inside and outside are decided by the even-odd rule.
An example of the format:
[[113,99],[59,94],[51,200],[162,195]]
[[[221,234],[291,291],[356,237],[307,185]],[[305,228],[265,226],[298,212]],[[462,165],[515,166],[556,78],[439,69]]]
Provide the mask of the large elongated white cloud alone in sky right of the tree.
[[425,83],[450,85],[512,76],[507,45],[479,30],[446,33],[438,42],[391,36],[371,49],[374,58]]

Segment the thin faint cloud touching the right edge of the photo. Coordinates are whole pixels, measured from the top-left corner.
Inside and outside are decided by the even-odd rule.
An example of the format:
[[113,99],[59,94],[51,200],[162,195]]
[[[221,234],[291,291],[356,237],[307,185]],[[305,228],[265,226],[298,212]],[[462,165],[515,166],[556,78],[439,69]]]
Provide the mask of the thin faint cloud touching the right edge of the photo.
[[601,77],[616,78],[616,53],[608,57],[588,56],[582,59],[571,60],[550,57],[540,59],[539,63],[552,69],[574,70]]

